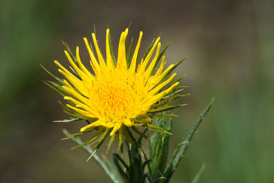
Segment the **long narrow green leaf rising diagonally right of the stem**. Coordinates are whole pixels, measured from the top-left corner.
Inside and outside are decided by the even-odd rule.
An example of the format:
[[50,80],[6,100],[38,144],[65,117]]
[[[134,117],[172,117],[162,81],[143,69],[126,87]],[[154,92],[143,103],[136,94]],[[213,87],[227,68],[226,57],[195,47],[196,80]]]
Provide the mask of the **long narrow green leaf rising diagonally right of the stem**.
[[186,139],[182,143],[179,143],[179,145],[177,145],[173,153],[173,156],[171,158],[171,161],[169,162],[169,166],[164,171],[164,177],[166,178],[166,182],[169,182],[169,180],[171,179],[171,176],[173,175],[175,169],[177,168],[180,160],[182,160],[184,154],[186,153],[186,150],[188,148],[190,141],[192,140],[193,135],[195,134],[197,128],[201,124],[201,121],[203,121],[203,117],[205,117],[208,111],[210,110],[213,101],[214,101],[214,98],[212,99],[212,101],[210,101],[206,109],[203,110],[203,112],[201,112],[197,121],[192,126],[190,132],[188,132]]

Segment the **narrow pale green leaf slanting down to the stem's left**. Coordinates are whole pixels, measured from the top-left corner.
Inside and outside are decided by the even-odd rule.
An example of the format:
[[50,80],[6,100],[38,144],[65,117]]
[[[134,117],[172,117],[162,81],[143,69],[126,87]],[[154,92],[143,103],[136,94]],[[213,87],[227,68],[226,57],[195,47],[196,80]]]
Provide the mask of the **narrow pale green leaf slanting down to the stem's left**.
[[[66,136],[71,136],[71,134],[69,134],[69,132],[67,132],[66,130],[63,130],[63,133]],[[76,143],[77,145],[81,145],[83,144],[82,141],[79,138],[75,138],[72,137],[71,141],[73,141],[74,143]],[[103,160],[101,160],[101,158],[99,158],[99,156],[97,156],[97,154],[94,154],[94,151],[92,151],[92,149],[88,148],[86,145],[83,145],[82,148],[88,152],[88,154],[92,155],[92,158],[95,159],[95,161],[99,164],[99,166],[101,167],[101,169],[103,169],[103,171],[105,171],[105,173],[110,177],[110,179],[112,180],[112,182],[114,183],[120,183],[122,182],[118,172],[116,172],[115,169],[110,169],[105,165],[105,163],[103,162]]]

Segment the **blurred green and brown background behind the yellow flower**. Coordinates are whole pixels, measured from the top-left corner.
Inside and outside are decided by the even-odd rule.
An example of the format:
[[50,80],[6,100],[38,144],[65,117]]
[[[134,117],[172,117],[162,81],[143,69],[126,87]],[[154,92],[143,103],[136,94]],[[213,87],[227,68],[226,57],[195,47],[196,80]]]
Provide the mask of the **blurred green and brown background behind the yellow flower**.
[[110,182],[82,149],[60,141],[62,128],[77,132],[84,123],[51,123],[69,116],[42,83],[52,79],[39,64],[56,74],[53,60],[68,65],[61,40],[79,45],[88,61],[82,38],[94,25],[103,49],[106,27],[115,47],[129,23],[134,44],[144,32],[142,53],[162,33],[162,45],[173,40],[168,64],[190,55],[176,71],[188,74],[181,84],[192,95],[175,112],[172,150],[216,97],[172,182],[190,182],[203,163],[200,182],[274,182],[273,7],[271,0],[1,0],[0,182]]

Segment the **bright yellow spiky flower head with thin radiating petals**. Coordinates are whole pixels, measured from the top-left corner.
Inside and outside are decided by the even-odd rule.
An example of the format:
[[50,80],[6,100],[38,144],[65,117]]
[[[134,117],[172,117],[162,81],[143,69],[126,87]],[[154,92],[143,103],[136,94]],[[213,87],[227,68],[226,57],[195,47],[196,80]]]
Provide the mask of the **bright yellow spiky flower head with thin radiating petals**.
[[[92,40],[97,58],[95,58],[95,51],[92,51],[87,38],[84,38],[93,73],[82,64],[79,47],[76,48],[76,58],[69,50],[69,47],[67,47],[68,51],[64,51],[71,63],[72,72],[55,60],[55,64],[60,68],[58,71],[64,75],[66,80],[57,78],[61,85],[53,82],[51,84],[64,96],[64,99],[69,101],[70,104],[63,106],[66,112],[79,117],[79,119],[92,121],[82,127],[79,134],[97,129],[97,132],[88,143],[101,145],[105,137],[110,134],[112,136],[110,139],[111,145],[115,134],[119,134],[119,146],[121,146],[124,137],[130,141],[127,131],[129,128],[141,135],[142,132],[134,126],[142,125],[151,130],[161,130],[160,127],[150,124],[151,118],[157,117],[156,112],[179,107],[164,106],[177,98],[173,95],[176,90],[179,90],[179,88],[175,88],[179,82],[175,81],[170,84],[176,73],[169,76],[177,64],[171,64],[164,70],[165,57],[162,57],[163,51],[160,53],[160,37],[151,44],[146,56],[138,62],[142,32],[140,32],[131,59],[129,59],[130,52],[127,51],[125,43],[127,33],[128,29],[125,29],[125,32],[121,34],[117,60],[115,60],[112,53],[109,29],[106,30],[105,60],[99,50],[95,34],[92,34]],[[152,57],[153,53],[155,53],[155,56]],[[156,70],[155,66],[160,58],[162,58],[162,62]],[[163,89],[167,84],[169,86]],[[163,99],[164,97],[166,99]],[[182,95],[179,97],[182,97]],[[161,106],[164,107],[161,108]],[[164,115],[158,115],[158,117],[162,116]],[[101,137],[95,140],[100,135]]]

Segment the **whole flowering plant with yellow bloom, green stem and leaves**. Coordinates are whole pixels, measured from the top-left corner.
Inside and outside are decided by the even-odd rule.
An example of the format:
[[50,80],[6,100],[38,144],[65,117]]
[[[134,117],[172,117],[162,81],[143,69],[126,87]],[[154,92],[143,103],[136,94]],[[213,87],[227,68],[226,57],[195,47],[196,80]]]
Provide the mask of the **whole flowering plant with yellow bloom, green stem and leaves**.
[[[142,32],[133,54],[132,42],[127,47],[127,34],[128,29],[121,34],[117,59],[114,57],[109,29],[106,30],[105,60],[95,34],[92,34],[94,49],[88,39],[84,38],[92,72],[82,63],[79,47],[76,48],[76,56],[74,56],[69,46],[64,43],[66,47],[64,52],[72,66],[71,71],[56,60],[55,64],[66,79],[61,80],[44,68],[58,81],[58,83],[45,83],[64,97],[67,101],[66,105],[60,103],[64,111],[73,116],[72,119],[56,122],[85,120],[88,123],[79,130],[79,133],[69,134],[64,130],[64,134],[66,138],[77,143],[76,147],[82,147],[88,151],[90,158],[95,158],[99,162],[113,182],[145,182],[146,180],[169,182],[212,102],[203,111],[186,139],[179,143],[171,161],[167,163],[169,138],[173,117],[175,117],[169,111],[186,105],[171,105],[171,103],[179,97],[189,95],[177,94],[186,87],[178,86],[184,75],[172,81],[176,75],[172,72],[186,58],[164,69],[166,61],[163,54],[169,45],[160,51],[159,37],[153,40],[145,56],[139,61]],[[155,56],[152,57],[154,52]],[[156,69],[161,59],[160,66]],[[89,141],[82,143],[77,136],[86,133],[92,136]],[[119,154],[113,154],[118,171],[108,160],[103,162],[95,154],[108,137],[110,140],[107,151],[116,138],[118,138],[118,149],[121,154],[123,154],[123,147],[127,147],[129,163],[126,163]],[[149,157],[142,149],[142,138],[147,138],[149,141]]]

